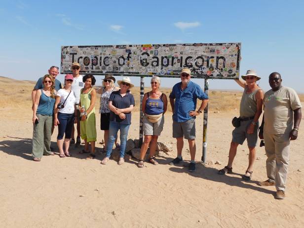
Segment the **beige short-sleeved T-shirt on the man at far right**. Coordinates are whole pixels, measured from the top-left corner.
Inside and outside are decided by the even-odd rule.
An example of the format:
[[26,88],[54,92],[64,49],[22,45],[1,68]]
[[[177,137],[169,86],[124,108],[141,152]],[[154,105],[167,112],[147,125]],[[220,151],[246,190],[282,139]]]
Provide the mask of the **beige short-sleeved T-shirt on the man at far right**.
[[290,133],[294,125],[293,110],[301,108],[297,93],[288,87],[269,90],[264,96],[264,132],[269,134]]

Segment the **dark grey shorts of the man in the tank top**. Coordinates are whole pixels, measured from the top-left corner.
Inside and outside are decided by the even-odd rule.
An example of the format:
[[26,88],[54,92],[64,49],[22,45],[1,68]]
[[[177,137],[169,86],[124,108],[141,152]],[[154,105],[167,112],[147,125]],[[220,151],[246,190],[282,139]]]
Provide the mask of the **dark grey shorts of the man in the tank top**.
[[243,145],[247,138],[249,147],[256,147],[258,142],[259,122],[257,122],[252,134],[247,133],[247,129],[253,120],[241,121],[241,126],[232,130],[232,142]]

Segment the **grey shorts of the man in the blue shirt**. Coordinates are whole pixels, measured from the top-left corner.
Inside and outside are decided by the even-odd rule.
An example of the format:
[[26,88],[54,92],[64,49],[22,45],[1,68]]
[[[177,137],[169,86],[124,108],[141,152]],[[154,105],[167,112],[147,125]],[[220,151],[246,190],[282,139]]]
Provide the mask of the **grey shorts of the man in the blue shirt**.
[[190,119],[186,122],[173,121],[172,127],[173,138],[195,139],[195,119]]

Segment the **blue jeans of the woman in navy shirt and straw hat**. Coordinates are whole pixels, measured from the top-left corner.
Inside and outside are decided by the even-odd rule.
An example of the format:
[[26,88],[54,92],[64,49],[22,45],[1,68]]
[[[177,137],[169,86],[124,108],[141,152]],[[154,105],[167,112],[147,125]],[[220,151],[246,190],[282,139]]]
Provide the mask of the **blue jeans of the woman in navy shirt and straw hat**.
[[120,158],[124,157],[124,151],[126,149],[129,127],[130,124],[120,124],[117,122],[110,121],[109,139],[108,139],[107,155],[106,155],[108,158],[110,158],[111,156],[112,148],[118,130],[120,130]]

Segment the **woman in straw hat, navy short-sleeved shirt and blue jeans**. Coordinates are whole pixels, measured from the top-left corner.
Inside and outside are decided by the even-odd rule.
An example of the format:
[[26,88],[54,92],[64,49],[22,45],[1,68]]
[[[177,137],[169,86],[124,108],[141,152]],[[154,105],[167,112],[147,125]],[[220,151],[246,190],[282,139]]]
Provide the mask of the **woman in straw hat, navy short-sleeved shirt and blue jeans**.
[[118,164],[124,163],[124,151],[126,148],[128,130],[131,125],[131,112],[135,105],[134,97],[129,92],[129,89],[134,85],[131,83],[129,77],[124,77],[122,80],[118,80],[120,87],[119,91],[112,92],[109,98],[110,113],[110,128],[109,139],[107,145],[106,157],[101,161],[102,164],[106,164],[111,156],[114,140],[117,136],[118,130],[120,130],[120,156]]

